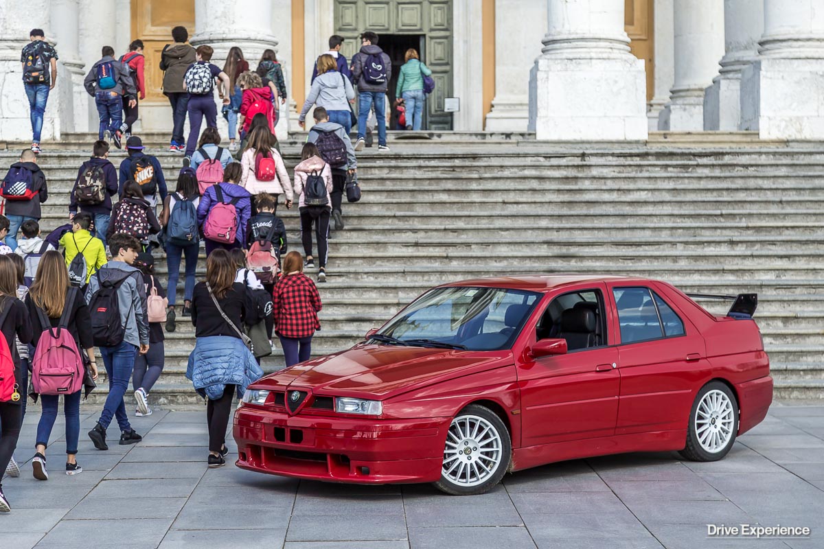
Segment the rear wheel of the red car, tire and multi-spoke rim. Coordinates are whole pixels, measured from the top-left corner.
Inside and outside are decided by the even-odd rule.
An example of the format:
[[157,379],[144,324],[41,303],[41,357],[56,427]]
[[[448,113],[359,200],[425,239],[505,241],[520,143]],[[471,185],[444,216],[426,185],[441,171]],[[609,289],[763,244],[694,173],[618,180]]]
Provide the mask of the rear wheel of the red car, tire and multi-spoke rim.
[[738,432],[738,402],[720,381],[698,392],[690,412],[686,448],[680,454],[692,461],[717,461],[728,454]]

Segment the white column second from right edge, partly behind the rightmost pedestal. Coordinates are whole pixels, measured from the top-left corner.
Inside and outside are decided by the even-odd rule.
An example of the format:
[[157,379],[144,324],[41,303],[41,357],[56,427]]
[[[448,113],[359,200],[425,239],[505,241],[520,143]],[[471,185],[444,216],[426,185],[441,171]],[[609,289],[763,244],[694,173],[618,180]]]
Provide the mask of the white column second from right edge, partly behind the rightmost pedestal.
[[713,85],[704,94],[704,129],[734,132],[741,125],[741,72],[758,56],[764,32],[763,0],[724,0],[726,53]]

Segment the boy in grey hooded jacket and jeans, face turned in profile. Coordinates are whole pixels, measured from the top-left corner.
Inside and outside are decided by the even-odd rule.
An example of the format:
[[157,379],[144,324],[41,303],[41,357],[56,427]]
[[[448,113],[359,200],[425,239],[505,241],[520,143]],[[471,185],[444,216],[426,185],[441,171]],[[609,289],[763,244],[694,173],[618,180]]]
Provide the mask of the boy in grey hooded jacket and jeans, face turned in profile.
[[86,300],[91,304],[101,283],[114,285],[117,288],[120,322],[124,326],[123,341],[119,345],[100,347],[106,376],[109,378],[109,395],[105,399],[100,419],[94,429],[89,431],[91,442],[99,450],[109,449],[105,442],[105,430],[113,417],[117,417],[120,427],[120,444],[135,444],[143,440],[129,424],[123,397],[129,388],[129,379],[132,379],[134,357],[138,352],[145,355],[149,350],[146,286],[143,274],[132,267],[142,249],[141,245],[133,236],[119,233],[110,238],[109,249],[114,257],[91,277],[86,290]]

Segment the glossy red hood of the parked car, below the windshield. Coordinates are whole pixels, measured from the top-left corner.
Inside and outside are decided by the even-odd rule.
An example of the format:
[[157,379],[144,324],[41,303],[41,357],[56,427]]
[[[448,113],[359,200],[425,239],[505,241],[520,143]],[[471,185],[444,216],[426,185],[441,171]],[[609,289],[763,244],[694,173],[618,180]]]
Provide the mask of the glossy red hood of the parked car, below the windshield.
[[316,394],[383,400],[446,379],[513,364],[512,351],[457,351],[358,344],[267,375],[256,388],[311,388]]

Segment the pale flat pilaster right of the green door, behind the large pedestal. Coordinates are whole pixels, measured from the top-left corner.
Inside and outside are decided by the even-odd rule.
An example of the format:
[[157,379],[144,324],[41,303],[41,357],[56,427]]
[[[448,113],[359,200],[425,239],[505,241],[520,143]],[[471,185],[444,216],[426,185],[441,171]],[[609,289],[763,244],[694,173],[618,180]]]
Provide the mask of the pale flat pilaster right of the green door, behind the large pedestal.
[[486,131],[527,131],[529,72],[546,34],[546,17],[545,2],[495,0],[495,97]]

